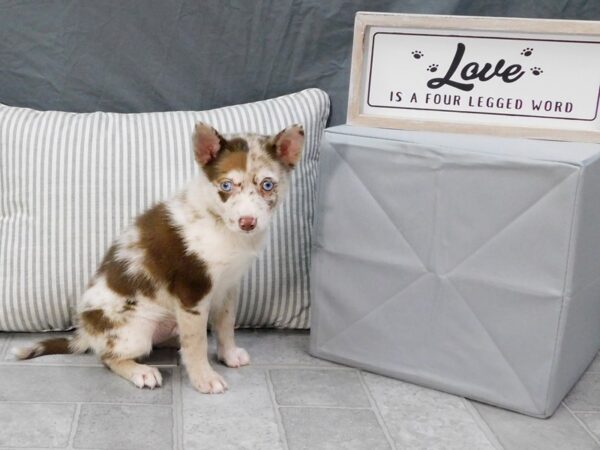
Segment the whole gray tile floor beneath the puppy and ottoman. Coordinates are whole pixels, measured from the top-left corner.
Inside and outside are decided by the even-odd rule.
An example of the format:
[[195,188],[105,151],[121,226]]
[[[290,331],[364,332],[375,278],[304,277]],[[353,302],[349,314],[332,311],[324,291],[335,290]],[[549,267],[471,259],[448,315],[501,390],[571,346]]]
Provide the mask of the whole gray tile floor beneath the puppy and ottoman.
[[93,355],[16,362],[39,335],[0,333],[0,448],[600,449],[600,360],[540,420],[312,358],[305,332],[238,336],[252,365],[215,364],[230,390],[207,396],[174,350],[150,359],[164,386],[139,390]]

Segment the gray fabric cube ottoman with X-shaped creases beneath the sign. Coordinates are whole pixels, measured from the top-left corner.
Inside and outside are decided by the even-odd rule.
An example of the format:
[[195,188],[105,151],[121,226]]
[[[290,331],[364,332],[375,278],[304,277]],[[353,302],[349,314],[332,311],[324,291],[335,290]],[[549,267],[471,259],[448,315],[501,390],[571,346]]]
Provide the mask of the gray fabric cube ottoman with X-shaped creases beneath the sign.
[[311,352],[537,417],[600,344],[600,145],[326,131]]

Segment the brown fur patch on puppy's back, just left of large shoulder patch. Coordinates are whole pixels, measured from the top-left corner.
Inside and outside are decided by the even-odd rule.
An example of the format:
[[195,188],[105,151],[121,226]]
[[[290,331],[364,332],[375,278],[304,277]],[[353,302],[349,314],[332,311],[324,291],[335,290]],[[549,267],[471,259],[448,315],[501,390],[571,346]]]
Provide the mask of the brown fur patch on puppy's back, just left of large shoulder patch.
[[114,244],[108,249],[98,269],[98,275],[105,276],[108,287],[124,297],[133,297],[138,292],[147,297],[154,297],[156,293],[154,283],[143,275],[129,274],[127,262],[117,259],[116,254],[117,244]]

